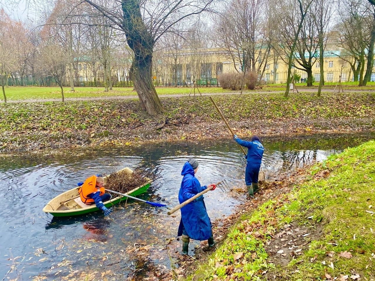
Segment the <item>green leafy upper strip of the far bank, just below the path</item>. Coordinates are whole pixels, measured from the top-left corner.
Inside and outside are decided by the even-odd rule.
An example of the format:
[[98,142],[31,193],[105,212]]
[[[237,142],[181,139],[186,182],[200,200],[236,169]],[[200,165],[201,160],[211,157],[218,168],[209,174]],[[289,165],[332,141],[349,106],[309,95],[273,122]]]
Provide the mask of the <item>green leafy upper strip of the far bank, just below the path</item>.
[[[374,97],[375,93],[326,94],[321,98],[311,94],[291,94],[285,99],[282,94],[254,93],[242,96],[216,96],[214,100],[229,121],[254,117],[268,121],[291,118],[373,117]],[[167,113],[170,120],[220,120],[207,97],[163,99],[163,104],[165,108],[171,109]],[[137,103],[130,100],[0,104],[0,133],[27,132],[35,129],[60,132],[78,129],[91,133],[92,130],[102,127],[115,130],[144,121]],[[102,127],[99,126],[99,122]]]

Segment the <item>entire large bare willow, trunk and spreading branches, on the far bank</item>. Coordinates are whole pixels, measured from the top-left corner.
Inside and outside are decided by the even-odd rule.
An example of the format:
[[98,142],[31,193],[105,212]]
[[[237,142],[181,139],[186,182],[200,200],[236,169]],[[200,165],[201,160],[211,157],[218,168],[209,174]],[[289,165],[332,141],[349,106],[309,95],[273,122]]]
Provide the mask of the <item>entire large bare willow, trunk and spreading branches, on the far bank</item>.
[[142,109],[151,116],[163,112],[156,94],[151,67],[155,43],[177,22],[210,10],[213,0],[109,1],[85,0],[123,30],[134,52],[130,77],[138,93]]

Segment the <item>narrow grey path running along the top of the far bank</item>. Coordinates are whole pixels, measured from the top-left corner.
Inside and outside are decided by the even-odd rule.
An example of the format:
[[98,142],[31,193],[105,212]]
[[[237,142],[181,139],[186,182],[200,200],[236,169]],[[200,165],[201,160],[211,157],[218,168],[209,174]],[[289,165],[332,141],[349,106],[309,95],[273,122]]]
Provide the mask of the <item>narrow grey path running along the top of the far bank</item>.
[[[318,89],[303,89],[300,90],[304,93],[317,93]],[[366,93],[366,92],[373,92],[374,90],[344,90],[347,93]],[[323,89],[322,93],[329,92],[333,93],[333,89]],[[223,95],[238,95],[241,92],[228,92],[228,93],[204,93],[202,96],[223,96]],[[284,93],[284,91],[257,91],[257,92],[246,92],[245,94],[269,94],[269,93]],[[337,93],[337,89],[336,89]],[[189,94],[165,94],[165,95],[159,95],[159,98],[168,98],[168,97],[187,97]],[[190,95],[191,97],[193,94]],[[199,96],[198,94],[195,94],[195,96]],[[108,96],[108,97],[77,97],[77,98],[65,98],[65,101],[82,101],[82,100],[131,100],[131,99],[138,99],[137,95],[134,96]],[[3,103],[3,101],[1,101]],[[34,100],[7,100],[7,103],[33,103],[33,102],[61,102],[61,99],[34,99]]]

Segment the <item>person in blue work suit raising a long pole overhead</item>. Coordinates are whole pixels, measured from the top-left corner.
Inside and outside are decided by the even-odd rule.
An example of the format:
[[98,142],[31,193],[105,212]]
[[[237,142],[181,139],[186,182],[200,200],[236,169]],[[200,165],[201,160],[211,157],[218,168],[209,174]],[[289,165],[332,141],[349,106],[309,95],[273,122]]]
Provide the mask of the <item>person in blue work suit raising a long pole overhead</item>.
[[259,191],[258,175],[262,163],[264,147],[258,136],[253,136],[250,142],[243,141],[237,137],[237,135],[234,135],[233,138],[239,145],[248,148],[248,154],[245,157],[247,160],[245,182],[249,196],[254,198],[254,193]]

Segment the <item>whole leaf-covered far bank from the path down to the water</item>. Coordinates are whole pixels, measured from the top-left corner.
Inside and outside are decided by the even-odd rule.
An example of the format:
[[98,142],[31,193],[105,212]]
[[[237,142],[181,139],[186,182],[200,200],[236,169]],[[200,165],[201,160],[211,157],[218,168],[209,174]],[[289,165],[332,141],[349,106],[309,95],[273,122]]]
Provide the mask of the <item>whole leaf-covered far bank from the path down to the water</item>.
[[[361,132],[374,128],[375,94],[280,93],[216,96],[239,136]],[[0,105],[0,152],[199,140],[229,132],[208,97],[162,100],[168,109],[147,118],[135,100]]]

